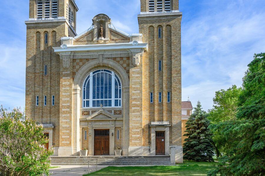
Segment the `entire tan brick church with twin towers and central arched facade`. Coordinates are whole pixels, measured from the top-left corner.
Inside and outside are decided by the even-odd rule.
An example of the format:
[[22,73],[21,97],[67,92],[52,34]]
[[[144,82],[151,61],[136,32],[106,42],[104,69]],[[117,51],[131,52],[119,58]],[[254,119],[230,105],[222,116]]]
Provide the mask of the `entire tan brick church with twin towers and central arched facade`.
[[77,34],[74,0],[29,0],[26,116],[44,126],[54,156],[120,148],[183,162],[182,13],[178,0],[139,1],[139,33],[95,14]]

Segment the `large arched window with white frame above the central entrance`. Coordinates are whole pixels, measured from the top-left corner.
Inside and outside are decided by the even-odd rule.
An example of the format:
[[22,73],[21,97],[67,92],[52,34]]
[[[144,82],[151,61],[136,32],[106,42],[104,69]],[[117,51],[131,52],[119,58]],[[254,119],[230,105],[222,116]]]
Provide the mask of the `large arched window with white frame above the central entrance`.
[[112,71],[91,72],[83,84],[83,107],[121,107],[122,85]]

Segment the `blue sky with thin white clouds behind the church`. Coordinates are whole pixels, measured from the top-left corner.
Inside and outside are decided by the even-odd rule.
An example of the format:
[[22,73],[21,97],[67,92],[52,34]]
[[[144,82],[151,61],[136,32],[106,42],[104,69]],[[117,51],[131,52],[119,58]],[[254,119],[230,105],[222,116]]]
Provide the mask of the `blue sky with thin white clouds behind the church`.
[[[77,33],[105,13],[115,28],[138,33],[140,0],[76,0]],[[104,6],[104,7],[102,7]],[[1,0],[0,104],[25,106],[26,25],[29,1]],[[241,86],[254,53],[265,52],[264,0],[180,0],[182,18],[182,100],[204,110],[215,91]]]

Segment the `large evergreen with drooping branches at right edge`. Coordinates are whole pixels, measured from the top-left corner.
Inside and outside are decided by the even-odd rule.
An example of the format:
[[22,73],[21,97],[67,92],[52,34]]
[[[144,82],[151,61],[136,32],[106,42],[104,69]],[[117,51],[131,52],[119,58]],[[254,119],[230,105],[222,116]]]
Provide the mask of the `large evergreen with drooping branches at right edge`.
[[265,53],[255,54],[243,78],[236,119],[212,125],[227,141],[233,140],[233,155],[208,175],[265,175]]

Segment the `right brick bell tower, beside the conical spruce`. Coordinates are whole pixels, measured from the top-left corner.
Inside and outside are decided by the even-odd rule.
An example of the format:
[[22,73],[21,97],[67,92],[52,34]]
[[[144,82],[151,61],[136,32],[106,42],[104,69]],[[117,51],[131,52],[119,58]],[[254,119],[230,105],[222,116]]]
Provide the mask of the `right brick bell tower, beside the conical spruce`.
[[[148,52],[143,55],[143,146],[155,155],[155,131],[167,131],[166,153],[183,162],[181,143],[181,18],[179,0],[141,0],[139,33]],[[152,103],[150,103],[150,94]],[[166,132],[167,133],[167,132]],[[133,138],[133,132],[130,138]],[[130,146],[134,146],[130,142]]]

